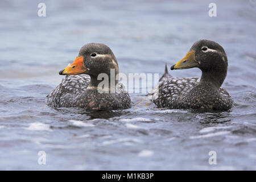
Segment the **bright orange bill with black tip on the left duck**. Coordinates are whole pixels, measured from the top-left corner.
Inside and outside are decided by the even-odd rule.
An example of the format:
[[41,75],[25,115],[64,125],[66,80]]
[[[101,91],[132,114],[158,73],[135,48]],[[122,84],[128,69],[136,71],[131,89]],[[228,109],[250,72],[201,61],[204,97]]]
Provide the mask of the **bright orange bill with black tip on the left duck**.
[[85,68],[84,57],[76,57],[75,61],[72,64],[69,64],[65,69],[59,72],[60,75],[79,75],[88,71],[88,68]]

